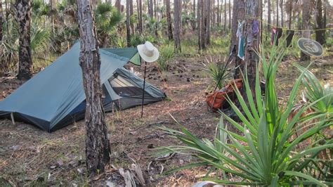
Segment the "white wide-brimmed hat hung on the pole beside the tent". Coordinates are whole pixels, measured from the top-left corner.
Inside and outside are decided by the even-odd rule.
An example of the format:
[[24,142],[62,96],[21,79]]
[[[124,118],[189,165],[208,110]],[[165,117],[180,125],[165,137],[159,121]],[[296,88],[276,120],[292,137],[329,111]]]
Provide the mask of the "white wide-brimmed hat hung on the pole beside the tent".
[[158,49],[149,41],[145,41],[145,44],[138,45],[137,48],[141,58],[147,63],[155,62],[159,58]]

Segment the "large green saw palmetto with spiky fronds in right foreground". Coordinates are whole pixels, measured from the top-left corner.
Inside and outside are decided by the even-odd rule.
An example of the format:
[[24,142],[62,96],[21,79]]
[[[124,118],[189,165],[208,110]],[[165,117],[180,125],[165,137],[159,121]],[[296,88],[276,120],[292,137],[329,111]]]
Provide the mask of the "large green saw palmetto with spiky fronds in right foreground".
[[[280,104],[275,91],[275,75],[284,54],[282,46],[273,46],[268,52],[268,59],[265,58],[266,50],[261,51],[259,57],[263,77],[266,79],[264,96],[261,94],[259,68],[256,70],[254,94],[245,74],[245,94],[243,95],[247,98],[243,98],[240,91],[236,89],[235,93],[240,106],[237,107],[229,100],[231,108],[241,122],[236,122],[228,115],[221,113],[221,124],[218,129],[226,133],[228,141],[214,138],[213,143],[209,143],[190,134],[183,127],[181,132],[168,129],[167,131],[176,135],[174,137],[185,143],[185,146],[171,146],[166,150],[175,152],[181,150],[182,153],[185,153],[185,150],[191,150],[190,154],[202,160],[201,163],[240,177],[240,180],[226,176],[205,179],[216,183],[263,186],[332,185],[325,177],[316,179],[313,172],[308,172],[307,169],[318,153],[327,148],[333,148],[333,140],[327,140],[320,145],[317,143],[319,140],[311,141],[311,143],[308,143],[308,140],[319,134],[322,129],[331,126],[333,122],[329,120],[329,117],[323,119],[324,115],[321,113],[303,115],[309,108],[321,105],[320,102],[325,101],[329,96],[313,98],[302,105],[290,119],[289,115],[297,102],[297,93],[308,75],[306,69],[301,71],[301,75],[296,79],[289,93],[287,103]],[[332,118],[332,111],[325,112],[326,115]],[[223,128],[226,126],[223,123],[232,125],[241,134]],[[311,128],[304,128],[306,126]],[[304,144],[306,148],[300,150],[299,146]],[[315,167],[312,168],[315,169]]]

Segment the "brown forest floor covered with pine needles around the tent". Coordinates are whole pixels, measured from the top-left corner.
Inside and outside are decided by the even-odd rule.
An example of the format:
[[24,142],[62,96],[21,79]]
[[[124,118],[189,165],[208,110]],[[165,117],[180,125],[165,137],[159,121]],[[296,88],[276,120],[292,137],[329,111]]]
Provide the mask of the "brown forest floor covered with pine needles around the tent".
[[[322,83],[332,85],[333,56],[322,59],[327,64],[315,63],[311,71]],[[289,96],[294,80],[299,75],[296,67],[292,66],[294,62],[296,60],[285,60],[278,73],[278,96],[282,99]],[[171,70],[163,72],[162,77],[156,68],[148,68],[148,82],[165,91],[168,99],[145,105],[143,118],[141,107],[106,114],[113,168],[110,167],[95,179],[87,179],[84,174],[83,121],[49,134],[30,124],[16,122],[13,125],[10,120],[0,120],[0,186],[83,186],[88,183],[105,186],[110,182],[124,185],[122,176],[115,168],[128,169],[133,162],[140,165],[152,186],[190,186],[200,181],[208,167],[161,174],[193,162],[190,156],[175,155],[162,162],[150,162],[157,157],[155,148],[180,143],[158,127],[179,129],[179,122],[200,138],[213,138],[219,115],[207,110],[205,98],[212,83],[202,71],[203,63],[206,63],[204,57],[176,57],[171,62]],[[0,101],[20,84],[22,82],[13,77],[0,77]]]

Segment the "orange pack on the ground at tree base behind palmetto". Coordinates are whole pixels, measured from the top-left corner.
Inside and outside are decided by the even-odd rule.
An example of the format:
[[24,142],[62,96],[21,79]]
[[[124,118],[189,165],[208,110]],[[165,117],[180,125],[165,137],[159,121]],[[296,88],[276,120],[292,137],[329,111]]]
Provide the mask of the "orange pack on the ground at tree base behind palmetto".
[[223,87],[223,89],[219,91],[214,91],[214,93],[208,95],[206,98],[206,102],[209,108],[215,111],[223,108],[223,106],[228,103],[226,101],[226,98],[229,97],[233,100],[233,98],[235,97],[234,86],[236,86],[237,89],[241,89],[243,86],[242,79],[235,79],[231,81],[228,85]]

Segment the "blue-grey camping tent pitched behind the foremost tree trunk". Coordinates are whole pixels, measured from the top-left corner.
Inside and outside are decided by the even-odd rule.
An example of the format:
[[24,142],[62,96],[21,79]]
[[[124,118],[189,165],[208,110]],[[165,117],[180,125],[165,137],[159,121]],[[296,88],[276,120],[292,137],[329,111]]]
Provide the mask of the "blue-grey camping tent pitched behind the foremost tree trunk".
[[[35,124],[51,132],[84,118],[86,101],[79,66],[80,44],[0,101],[0,118]],[[100,49],[100,79],[105,112],[141,105],[143,79],[123,66],[140,65],[136,48]],[[144,104],[162,101],[165,94],[146,82]]]

